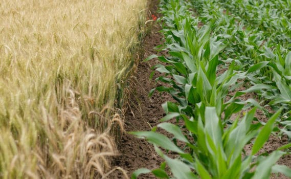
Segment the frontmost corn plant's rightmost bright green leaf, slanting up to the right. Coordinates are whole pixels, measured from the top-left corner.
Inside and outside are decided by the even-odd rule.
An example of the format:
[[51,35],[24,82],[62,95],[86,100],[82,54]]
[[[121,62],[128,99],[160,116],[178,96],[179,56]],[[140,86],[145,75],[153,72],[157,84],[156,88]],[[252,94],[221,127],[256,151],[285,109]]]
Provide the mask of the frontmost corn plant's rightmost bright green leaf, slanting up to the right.
[[281,114],[281,111],[282,109],[278,110],[277,113],[275,113],[263,126],[252,148],[252,155],[256,154],[270,137],[271,132],[273,131],[274,123]]

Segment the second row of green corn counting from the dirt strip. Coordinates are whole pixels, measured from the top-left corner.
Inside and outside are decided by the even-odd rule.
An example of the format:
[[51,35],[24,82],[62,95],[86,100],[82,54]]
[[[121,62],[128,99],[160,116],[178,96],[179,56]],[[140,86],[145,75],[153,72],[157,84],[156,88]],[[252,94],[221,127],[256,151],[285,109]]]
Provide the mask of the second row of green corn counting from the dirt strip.
[[[289,111],[288,98],[285,101],[280,100],[283,95],[281,83],[284,86],[288,86],[288,79],[283,81],[279,80],[280,84],[278,82],[276,83],[274,81],[278,80],[274,78],[273,73],[275,70],[282,78],[285,79],[285,76],[288,78],[288,75],[281,73],[285,72],[285,70],[280,67],[282,66],[281,64],[285,64],[282,58],[288,56],[288,50],[280,45],[274,49],[272,38],[266,38],[264,35],[265,32],[258,30],[256,27],[254,27],[255,29],[251,26],[244,27],[243,23],[238,21],[240,17],[235,14],[229,14],[228,11],[223,11],[223,8],[221,8],[223,3],[219,3],[219,1],[201,0],[192,2],[192,4],[194,7],[200,7],[198,11],[204,17],[204,23],[207,23],[209,19],[215,20],[214,33],[218,34],[220,40],[223,40],[227,44],[227,47],[221,53],[225,59],[223,61],[235,61],[235,70],[248,72],[245,82],[253,85],[253,88],[249,89],[249,92],[251,90],[256,92],[260,97],[260,103],[265,104],[265,106],[270,105],[274,110],[283,106],[284,112]],[[285,68],[288,69],[288,65]],[[258,88],[258,86],[262,88]],[[287,87],[284,88],[285,90],[288,89]],[[277,100],[272,101],[274,99]],[[265,114],[268,115],[267,111]]]

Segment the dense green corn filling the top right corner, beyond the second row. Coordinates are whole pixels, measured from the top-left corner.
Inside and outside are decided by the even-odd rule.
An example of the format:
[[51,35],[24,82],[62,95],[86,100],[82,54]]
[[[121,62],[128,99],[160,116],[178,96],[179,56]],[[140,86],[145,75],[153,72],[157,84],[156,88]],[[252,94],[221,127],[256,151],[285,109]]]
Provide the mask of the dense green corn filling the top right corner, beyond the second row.
[[[288,1],[217,1],[240,21],[257,27],[264,36],[271,37],[274,44],[281,43],[290,48],[290,21]],[[287,7],[287,8],[286,8]]]

